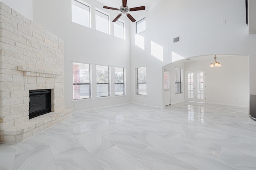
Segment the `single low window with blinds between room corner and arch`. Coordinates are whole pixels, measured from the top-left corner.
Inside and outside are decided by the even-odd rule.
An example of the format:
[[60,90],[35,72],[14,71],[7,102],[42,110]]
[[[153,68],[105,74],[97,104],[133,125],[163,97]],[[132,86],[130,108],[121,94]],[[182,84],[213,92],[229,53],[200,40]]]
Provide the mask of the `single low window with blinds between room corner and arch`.
[[146,66],[136,68],[136,94],[147,95]]

